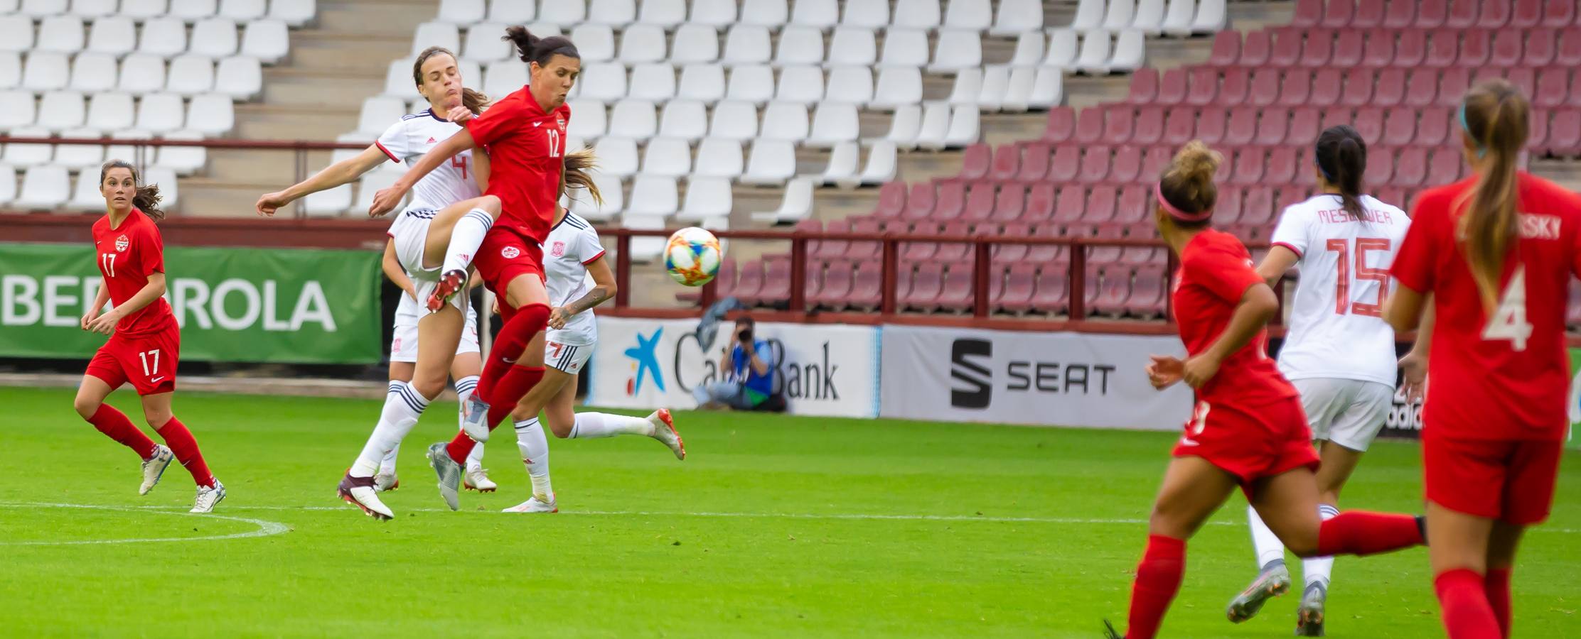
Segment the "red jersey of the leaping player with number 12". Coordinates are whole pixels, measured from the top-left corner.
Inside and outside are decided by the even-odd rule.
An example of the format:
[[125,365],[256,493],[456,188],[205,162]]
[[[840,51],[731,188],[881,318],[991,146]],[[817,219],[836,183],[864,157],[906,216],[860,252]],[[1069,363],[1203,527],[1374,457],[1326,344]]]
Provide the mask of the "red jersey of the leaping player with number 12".
[[522,87],[466,120],[473,142],[489,147],[489,194],[503,205],[496,227],[512,229],[539,245],[549,237],[560,200],[560,174],[566,163],[566,123],[571,107],[544,114]]

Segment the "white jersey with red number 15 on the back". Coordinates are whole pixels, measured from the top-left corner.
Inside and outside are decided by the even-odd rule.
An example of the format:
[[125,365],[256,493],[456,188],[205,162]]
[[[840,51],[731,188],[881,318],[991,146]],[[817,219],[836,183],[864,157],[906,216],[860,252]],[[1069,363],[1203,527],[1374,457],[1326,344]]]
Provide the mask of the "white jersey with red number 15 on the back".
[[1279,216],[1273,245],[1300,256],[1290,333],[1279,349],[1289,379],[1353,379],[1394,387],[1394,330],[1383,322],[1388,268],[1406,237],[1406,211],[1361,196],[1361,219],[1339,196],[1314,196]]

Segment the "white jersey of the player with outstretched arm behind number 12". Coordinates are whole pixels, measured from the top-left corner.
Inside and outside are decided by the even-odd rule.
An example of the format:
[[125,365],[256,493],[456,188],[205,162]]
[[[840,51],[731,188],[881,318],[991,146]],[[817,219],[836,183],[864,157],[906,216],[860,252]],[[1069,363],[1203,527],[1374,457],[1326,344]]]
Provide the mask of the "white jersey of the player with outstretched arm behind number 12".
[[[406,164],[409,169],[433,147],[460,129],[462,125],[441,120],[433,114],[433,109],[424,109],[421,114],[406,115],[391,125],[375,144],[391,161]],[[451,161],[440,164],[438,169],[417,180],[411,191],[408,210],[440,210],[481,196],[477,177],[473,174],[473,151],[457,153]]]

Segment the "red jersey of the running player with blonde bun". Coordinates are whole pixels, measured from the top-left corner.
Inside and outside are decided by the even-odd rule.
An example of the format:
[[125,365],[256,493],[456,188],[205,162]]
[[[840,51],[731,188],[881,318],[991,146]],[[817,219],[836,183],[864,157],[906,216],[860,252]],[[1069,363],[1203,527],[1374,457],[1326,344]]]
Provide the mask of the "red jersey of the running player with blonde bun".
[[[1246,297],[1246,289],[1262,282],[1263,278],[1252,268],[1252,256],[1241,240],[1213,229],[1197,234],[1181,251],[1173,293],[1175,322],[1186,352],[1198,355],[1208,350],[1230,325],[1230,316]],[[1295,398],[1295,387],[1279,374],[1274,360],[1268,358],[1266,346],[1268,331],[1257,331],[1252,341],[1224,360],[1208,383],[1197,388],[1197,401],[1255,409]]]

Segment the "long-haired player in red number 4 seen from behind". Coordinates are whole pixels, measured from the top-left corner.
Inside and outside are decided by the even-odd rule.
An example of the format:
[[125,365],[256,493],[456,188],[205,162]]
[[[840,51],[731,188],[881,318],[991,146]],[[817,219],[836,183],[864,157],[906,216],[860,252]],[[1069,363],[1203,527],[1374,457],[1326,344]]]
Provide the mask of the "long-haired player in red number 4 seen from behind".
[[[1421,412],[1434,590],[1453,639],[1510,636],[1510,568],[1548,519],[1570,424],[1565,301],[1581,197],[1519,170],[1526,96],[1505,80],[1459,110],[1475,177],[1423,191],[1385,319],[1428,357]],[[1431,298],[1431,308],[1429,305]]]

